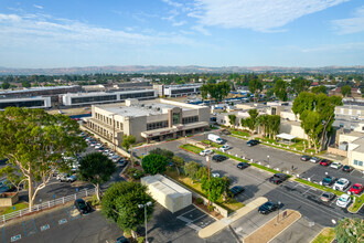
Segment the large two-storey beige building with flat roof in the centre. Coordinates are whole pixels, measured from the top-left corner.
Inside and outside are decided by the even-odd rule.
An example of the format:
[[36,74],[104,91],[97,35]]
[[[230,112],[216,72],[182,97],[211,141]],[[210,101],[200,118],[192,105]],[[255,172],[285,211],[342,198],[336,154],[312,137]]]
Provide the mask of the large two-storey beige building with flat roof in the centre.
[[210,108],[167,99],[127,99],[124,104],[93,105],[86,127],[117,146],[122,135],[137,142],[165,140],[204,131]]

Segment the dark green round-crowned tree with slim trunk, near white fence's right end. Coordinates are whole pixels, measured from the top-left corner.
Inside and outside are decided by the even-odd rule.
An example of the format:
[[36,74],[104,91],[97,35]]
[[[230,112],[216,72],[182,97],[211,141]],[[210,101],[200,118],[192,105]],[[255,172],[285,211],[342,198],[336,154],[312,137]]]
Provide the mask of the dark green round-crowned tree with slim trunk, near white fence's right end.
[[98,201],[100,200],[100,183],[108,181],[115,171],[115,163],[101,152],[88,154],[79,161],[79,178],[95,186]]

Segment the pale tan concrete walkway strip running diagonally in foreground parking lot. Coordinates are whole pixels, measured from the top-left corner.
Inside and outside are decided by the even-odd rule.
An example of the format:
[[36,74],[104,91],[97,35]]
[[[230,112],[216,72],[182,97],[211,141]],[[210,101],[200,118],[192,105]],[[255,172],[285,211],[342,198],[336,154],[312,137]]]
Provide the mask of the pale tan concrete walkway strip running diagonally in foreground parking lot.
[[259,197],[259,198],[255,199],[250,203],[246,204],[244,208],[237,210],[235,213],[233,213],[233,215],[222,219],[220,221],[216,221],[216,222],[210,224],[208,226],[202,229],[201,231],[199,231],[199,236],[202,239],[206,239],[206,237],[214,235],[215,233],[218,233],[220,231],[224,230],[229,224],[234,223],[236,220],[243,218],[244,215],[246,215],[250,211],[255,210],[259,205],[266,203],[267,201],[268,201],[268,199],[266,199],[264,197]]

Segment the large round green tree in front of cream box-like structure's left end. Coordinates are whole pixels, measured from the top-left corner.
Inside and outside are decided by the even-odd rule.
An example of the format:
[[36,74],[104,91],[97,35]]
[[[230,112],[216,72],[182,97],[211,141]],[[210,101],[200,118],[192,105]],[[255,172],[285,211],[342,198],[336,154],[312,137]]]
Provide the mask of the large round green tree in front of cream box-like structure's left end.
[[154,211],[154,200],[147,192],[147,187],[138,182],[116,182],[106,190],[101,200],[101,213],[124,231],[136,231],[137,226],[144,223],[144,209],[138,204],[146,204],[147,220]]

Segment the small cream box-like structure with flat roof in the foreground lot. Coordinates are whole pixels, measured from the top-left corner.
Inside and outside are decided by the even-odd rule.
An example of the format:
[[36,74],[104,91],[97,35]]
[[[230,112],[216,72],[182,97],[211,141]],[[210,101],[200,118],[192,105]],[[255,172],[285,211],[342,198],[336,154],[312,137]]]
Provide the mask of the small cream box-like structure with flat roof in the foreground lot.
[[172,213],[192,204],[192,192],[161,175],[143,177],[151,197]]

